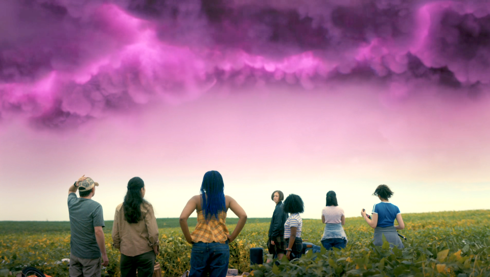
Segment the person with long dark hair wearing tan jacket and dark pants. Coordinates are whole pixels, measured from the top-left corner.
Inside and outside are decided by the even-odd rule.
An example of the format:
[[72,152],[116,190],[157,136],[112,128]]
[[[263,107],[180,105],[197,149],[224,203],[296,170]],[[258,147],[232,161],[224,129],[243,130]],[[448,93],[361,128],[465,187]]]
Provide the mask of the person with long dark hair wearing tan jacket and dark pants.
[[151,277],[159,252],[158,226],[153,207],[145,197],[145,183],[139,177],[128,182],[124,202],[115,209],[113,246],[121,252],[121,277]]

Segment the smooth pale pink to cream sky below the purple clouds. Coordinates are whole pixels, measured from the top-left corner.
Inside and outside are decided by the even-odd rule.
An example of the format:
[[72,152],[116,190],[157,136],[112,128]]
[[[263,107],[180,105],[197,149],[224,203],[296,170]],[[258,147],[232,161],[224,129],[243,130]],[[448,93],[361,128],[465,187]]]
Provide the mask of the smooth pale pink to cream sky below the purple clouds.
[[[157,217],[178,217],[207,170],[222,173],[225,193],[250,217],[270,216],[276,189],[302,196],[306,218],[318,217],[329,190],[357,216],[382,183],[403,212],[488,209],[489,99],[387,95],[368,84],[216,91],[72,131],[3,122],[0,220],[68,220],[66,191],[82,174],[101,184],[94,200],[106,220],[134,176]],[[42,209],[22,205],[31,201]]]

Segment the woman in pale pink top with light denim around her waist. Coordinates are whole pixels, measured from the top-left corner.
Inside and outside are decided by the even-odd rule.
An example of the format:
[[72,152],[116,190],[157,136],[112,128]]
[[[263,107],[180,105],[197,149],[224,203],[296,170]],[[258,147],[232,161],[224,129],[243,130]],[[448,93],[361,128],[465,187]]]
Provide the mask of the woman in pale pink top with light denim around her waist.
[[347,236],[342,228],[345,224],[344,209],[339,207],[337,203],[337,194],[331,190],[326,193],[325,208],[321,210],[321,222],[325,223],[321,244],[327,250],[332,250],[333,247],[345,248],[347,245]]

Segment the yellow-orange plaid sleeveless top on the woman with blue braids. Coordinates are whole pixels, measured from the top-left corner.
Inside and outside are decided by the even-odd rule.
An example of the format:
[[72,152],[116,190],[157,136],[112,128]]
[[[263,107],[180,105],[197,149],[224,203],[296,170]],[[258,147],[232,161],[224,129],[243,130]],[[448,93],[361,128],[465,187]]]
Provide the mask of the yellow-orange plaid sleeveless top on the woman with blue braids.
[[192,232],[191,237],[193,242],[220,242],[225,243],[228,240],[226,235],[229,235],[226,228],[226,212],[222,211],[218,214],[218,219],[212,217],[209,222],[206,222],[202,211],[197,213],[196,229]]

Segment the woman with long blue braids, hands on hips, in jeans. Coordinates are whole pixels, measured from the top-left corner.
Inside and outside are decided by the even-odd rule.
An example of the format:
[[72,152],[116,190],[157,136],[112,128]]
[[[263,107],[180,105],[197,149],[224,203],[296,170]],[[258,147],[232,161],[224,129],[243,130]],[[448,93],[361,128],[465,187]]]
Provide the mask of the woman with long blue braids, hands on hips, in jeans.
[[[226,228],[226,213],[230,209],[238,223],[230,235]],[[187,219],[197,211],[196,229],[189,232]],[[224,183],[218,171],[207,171],[201,193],[193,196],[180,214],[180,228],[185,240],[192,244],[190,277],[226,276],[229,264],[228,243],[234,241],[247,221],[247,214],[231,196],[224,194]]]

